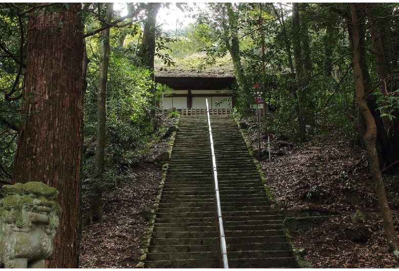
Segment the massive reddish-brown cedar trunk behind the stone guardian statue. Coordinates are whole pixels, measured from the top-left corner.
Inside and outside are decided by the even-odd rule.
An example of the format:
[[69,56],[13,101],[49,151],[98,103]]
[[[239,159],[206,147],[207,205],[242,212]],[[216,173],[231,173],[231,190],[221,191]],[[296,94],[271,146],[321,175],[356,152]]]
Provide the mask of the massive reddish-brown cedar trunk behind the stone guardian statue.
[[27,63],[13,183],[56,188],[62,213],[50,268],[78,267],[83,38],[79,4],[29,17]]

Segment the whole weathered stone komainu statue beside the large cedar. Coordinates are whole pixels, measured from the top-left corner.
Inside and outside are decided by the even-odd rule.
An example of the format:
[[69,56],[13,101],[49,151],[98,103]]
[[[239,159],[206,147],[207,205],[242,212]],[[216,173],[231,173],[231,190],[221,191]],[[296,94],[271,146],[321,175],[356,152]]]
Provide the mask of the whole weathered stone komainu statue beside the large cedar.
[[40,182],[4,185],[0,200],[0,266],[45,268],[61,208],[55,188]]

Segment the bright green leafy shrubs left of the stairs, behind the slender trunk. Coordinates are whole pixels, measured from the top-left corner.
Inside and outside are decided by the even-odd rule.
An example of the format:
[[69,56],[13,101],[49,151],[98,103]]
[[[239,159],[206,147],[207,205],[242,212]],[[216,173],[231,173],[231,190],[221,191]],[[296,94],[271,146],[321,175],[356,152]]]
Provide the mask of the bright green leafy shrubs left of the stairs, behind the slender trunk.
[[[144,135],[154,126],[147,116],[152,85],[149,71],[132,65],[129,59],[113,53],[109,59],[107,83],[107,162],[129,163],[129,151],[141,144]],[[85,98],[85,136],[96,134],[96,102],[98,87],[98,65],[91,62]]]

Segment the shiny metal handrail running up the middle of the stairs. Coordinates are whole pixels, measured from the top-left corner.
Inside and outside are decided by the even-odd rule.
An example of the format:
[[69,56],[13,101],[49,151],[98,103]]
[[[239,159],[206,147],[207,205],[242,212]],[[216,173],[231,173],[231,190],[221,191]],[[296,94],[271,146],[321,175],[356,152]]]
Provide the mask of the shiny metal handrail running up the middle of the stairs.
[[211,119],[209,117],[208,99],[206,99],[205,101],[207,104],[209,143],[210,143],[211,155],[212,155],[213,187],[215,189],[215,202],[216,202],[217,224],[218,224],[218,228],[219,228],[219,237],[220,237],[221,262],[223,264],[223,268],[229,268],[229,263],[227,260],[226,237],[225,237],[225,231],[223,229],[223,219],[221,217],[219,185],[217,182],[216,159],[215,159],[215,152],[213,149],[213,138],[212,138],[212,129],[211,129]]

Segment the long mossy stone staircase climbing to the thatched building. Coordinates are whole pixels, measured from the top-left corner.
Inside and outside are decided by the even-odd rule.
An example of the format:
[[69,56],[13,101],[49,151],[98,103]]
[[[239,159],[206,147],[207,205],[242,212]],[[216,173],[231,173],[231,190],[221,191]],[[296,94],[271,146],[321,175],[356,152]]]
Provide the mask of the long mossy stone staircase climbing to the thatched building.
[[[296,267],[235,122],[211,116],[230,268]],[[206,115],[182,117],[144,267],[218,268],[219,236]]]

